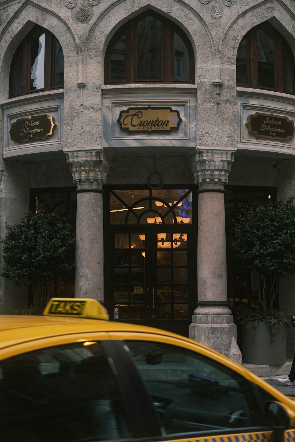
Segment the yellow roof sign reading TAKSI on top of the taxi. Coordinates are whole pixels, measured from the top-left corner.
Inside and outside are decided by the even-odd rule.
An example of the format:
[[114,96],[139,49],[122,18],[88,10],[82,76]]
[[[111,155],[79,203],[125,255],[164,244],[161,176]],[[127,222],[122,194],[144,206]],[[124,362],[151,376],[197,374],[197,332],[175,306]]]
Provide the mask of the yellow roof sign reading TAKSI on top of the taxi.
[[107,320],[106,309],[92,298],[51,298],[45,309],[45,316],[69,316]]

